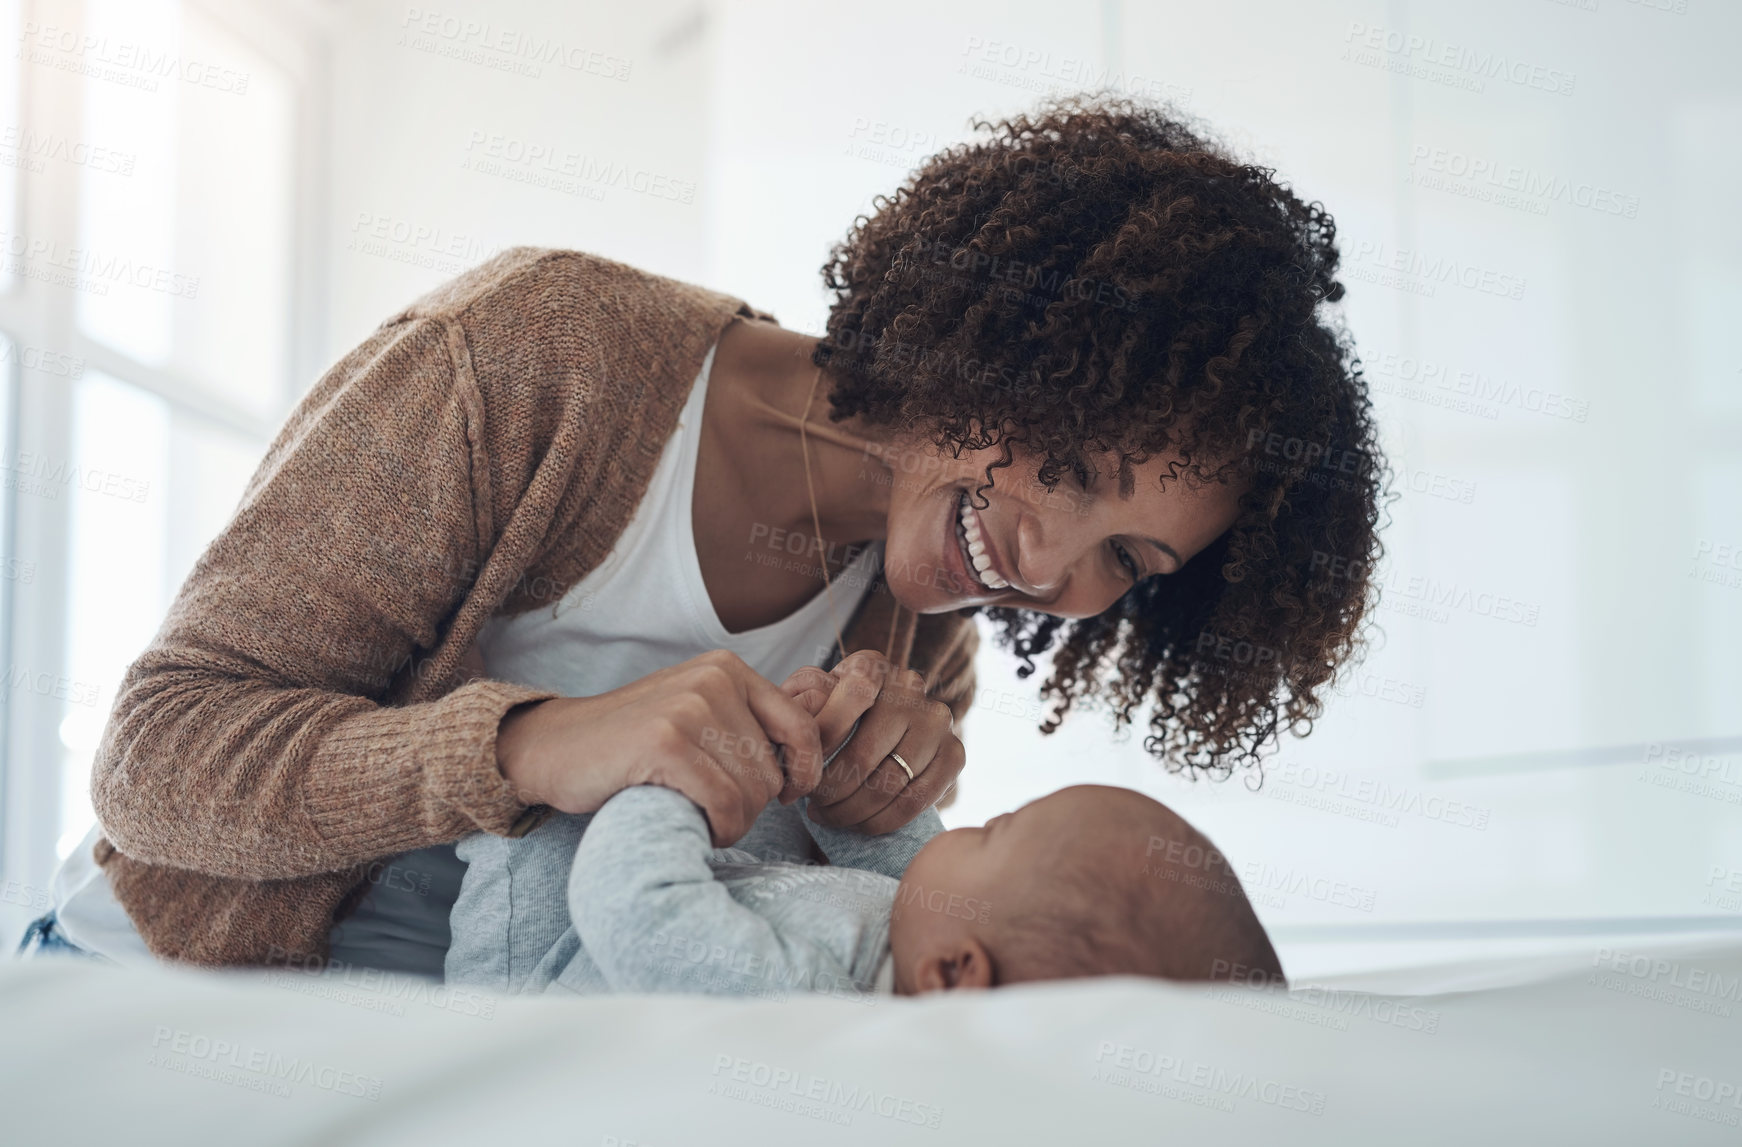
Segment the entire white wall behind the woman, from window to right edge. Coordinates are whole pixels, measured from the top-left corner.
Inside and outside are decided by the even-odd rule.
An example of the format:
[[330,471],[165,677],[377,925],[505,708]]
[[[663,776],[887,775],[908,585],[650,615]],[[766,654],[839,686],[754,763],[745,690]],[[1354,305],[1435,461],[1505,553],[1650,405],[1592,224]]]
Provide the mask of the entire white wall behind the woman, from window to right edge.
[[[949,818],[1073,781],[1151,791],[1254,877],[1296,973],[1742,926],[1712,875],[1742,870],[1742,558],[1726,556],[1742,547],[1742,9],[303,7],[331,38],[296,173],[314,192],[310,363],[521,242],[733,291],[815,331],[829,246],[970,117],[1104,78],[1204,117],[1322,199],[1345,237],[1347,316],[1404,479],[1381,635],[1256,793],[1169,777],[1089,713],[1036,736],[1010,715],[1035,682],[988,648]],[[547,45],[559,59],[528,59]],[[1491,58],[1524,82],[1456,63]],[[550,159],[516,159],[533,148]],[[1549,192],[1435,171],[1467,164]],[[618,169],[664,193],[594,178]],[[1395,270],[1418,260],[1519,296]],[[1409,382],[1423,363],[1437,382]],[[1479,410],[1458,394],[1470,378],[1498,387]],[[1545,396],[1578,417],[1543,413]],[[1442,617],[1409,612],[1446,587]],[[1533,622],[1486,615],[1496,596]],[[1704,788],[1648,764],[1653,743],[1691,748]]]

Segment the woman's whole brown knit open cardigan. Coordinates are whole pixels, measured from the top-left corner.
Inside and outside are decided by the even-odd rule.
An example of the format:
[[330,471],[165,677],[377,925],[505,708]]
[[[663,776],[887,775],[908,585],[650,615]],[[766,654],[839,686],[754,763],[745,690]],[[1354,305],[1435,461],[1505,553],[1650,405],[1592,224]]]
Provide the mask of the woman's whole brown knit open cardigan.
[[[549,607],[613,547],[744,302],[517,248],[347,354],[129,668],[98,750],[96,845],[159,957],[319,959],[371,861],[519,835],[496,725],[550,697],[458,683],[493,614]],[[960,715],[976,629],[878,580],[845,633]]]

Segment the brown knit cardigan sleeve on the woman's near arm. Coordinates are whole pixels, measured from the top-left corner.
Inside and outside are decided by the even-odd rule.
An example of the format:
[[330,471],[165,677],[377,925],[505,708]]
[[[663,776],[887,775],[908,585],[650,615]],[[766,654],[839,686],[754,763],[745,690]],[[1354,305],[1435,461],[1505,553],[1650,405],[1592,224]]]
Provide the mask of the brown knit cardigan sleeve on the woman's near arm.
[[124,854],[277,880],[528,812],[496,725],[552,694],[472,682],[387,704],[458,610],[488,610],[469,594],[493,492],[463,354],[455,322],[401,319],[286,422],[122,682],[92,797]]

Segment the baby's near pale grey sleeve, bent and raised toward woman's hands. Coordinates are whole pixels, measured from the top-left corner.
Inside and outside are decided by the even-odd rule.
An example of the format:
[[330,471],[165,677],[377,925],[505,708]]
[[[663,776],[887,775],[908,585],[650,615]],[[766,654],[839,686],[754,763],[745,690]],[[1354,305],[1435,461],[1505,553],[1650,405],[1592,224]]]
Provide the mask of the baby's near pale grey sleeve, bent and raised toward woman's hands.
[[[611,990],[742,994],[768,980],[850,978],[833,952],[735,901],[714,879],[711,852],[700,809],[669,788],[625,788],[594,814],[570,872],[568,910]],[[726,974],[681,974],[672,957],[693,943],[718,952]]]

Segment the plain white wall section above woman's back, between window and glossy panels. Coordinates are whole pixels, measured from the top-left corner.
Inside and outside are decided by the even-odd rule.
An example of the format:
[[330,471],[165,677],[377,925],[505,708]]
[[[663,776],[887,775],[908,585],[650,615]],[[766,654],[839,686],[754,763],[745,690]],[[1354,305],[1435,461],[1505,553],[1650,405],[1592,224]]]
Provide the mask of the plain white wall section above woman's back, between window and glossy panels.
[[706,277],[706,12],[681,0],[345,9],[327,160],[331,356],[507,246]]

